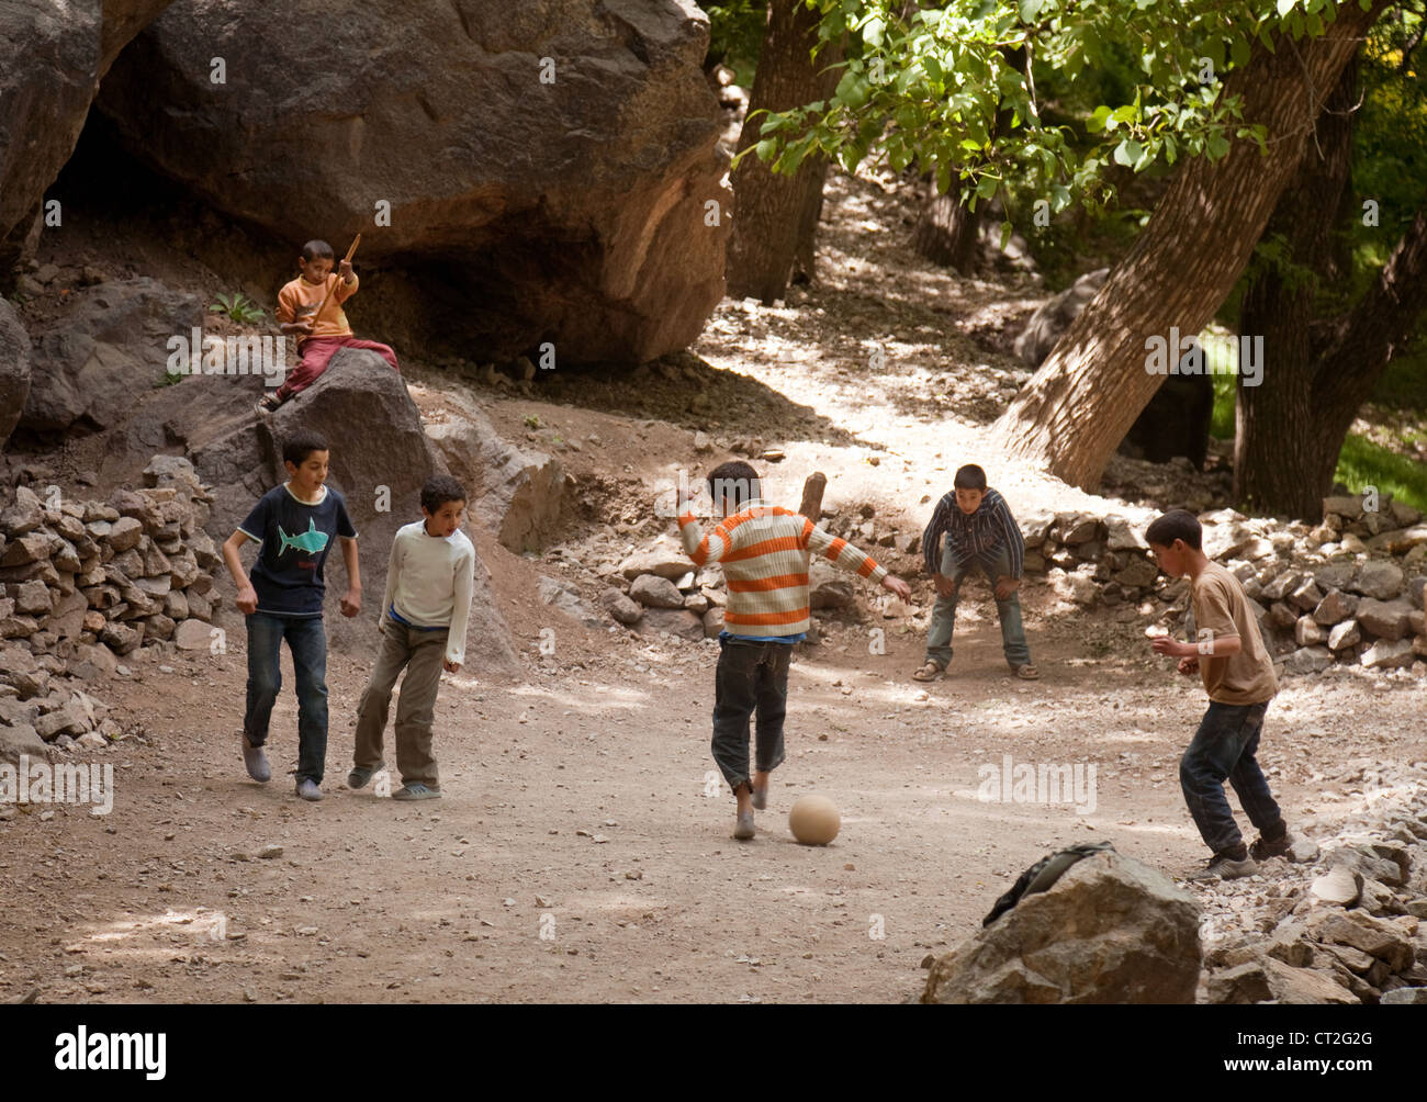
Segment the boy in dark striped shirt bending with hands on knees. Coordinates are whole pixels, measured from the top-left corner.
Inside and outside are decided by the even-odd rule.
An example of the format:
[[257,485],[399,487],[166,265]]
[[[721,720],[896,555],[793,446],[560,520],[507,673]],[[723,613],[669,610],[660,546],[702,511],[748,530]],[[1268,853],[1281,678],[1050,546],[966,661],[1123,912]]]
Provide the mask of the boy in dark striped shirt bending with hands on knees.
[[[946,550],[942,551],[942,535]],[[912,674],[915,681],[936,681],[952,664],[952,630],[956,627],[956,595],[962,578],[979,567],[992,584],[1000,644],[1010,671],[1027,681],[1040,677],[1030,664],[1026,630],[1020,622],[1020,572],[1026,541],[1010,515],[1006,498],[986,487],[986,471],[968,464],[956,471],[952,492],[936,502],[930,524],[922,534],[926,572],[936,584],[936,605],[926,632],[926,661]]]

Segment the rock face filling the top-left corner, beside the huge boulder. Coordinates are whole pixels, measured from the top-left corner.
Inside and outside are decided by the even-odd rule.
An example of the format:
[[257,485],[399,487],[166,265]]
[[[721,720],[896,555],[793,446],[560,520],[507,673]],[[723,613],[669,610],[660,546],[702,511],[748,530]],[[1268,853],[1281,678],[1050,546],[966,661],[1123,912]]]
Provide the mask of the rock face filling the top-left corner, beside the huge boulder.
[[100,79],[170,3],[0,4],[0,278],[74,151]]

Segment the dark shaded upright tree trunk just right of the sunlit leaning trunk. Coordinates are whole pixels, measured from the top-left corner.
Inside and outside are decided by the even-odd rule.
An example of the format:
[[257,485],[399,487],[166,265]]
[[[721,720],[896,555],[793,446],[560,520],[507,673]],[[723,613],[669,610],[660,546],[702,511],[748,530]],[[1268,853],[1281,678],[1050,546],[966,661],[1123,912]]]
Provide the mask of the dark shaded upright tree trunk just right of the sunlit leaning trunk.
[[[1287,241],[1283,264],[1264,268],[1247,288],[1239,317],[1243,338],[1263,337],[1261,381],[1246,387],[1239,377],[1234,435],[1234,500],[1256,512],[1316,521],[1327,485],[1317,474],[1333,464],[1343,438],[1323,431],[1314,394],[1317,355],[1311,323],[1319,288],[1336,267],[1343,210],[1353,158],[1353,107],[1357,61],[1343,67],[1333,94],[1306,143],[1289,187],[1264,236]],[[1313,273],[1294,281],[1291,267]]]

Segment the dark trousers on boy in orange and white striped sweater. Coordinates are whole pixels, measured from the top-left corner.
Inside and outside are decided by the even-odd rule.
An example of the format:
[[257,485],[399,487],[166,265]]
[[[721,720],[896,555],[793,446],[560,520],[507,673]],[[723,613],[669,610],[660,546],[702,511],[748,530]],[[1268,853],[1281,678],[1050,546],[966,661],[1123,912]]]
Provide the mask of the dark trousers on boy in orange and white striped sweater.
[[788,711],[789,642],[721,640],[714,677],[714,761],[738,789],[748,775],[748,718],[758,712],[758,768],[783,762],[783,715]]

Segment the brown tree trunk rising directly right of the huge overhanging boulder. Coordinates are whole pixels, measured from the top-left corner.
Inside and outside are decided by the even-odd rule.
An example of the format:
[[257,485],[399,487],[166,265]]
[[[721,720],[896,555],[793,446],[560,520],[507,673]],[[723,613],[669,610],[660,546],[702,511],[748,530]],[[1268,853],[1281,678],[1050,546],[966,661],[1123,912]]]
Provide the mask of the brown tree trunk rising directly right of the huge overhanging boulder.
[[[823,50],[813,60],[818,43],[818,11],[803,0],[769,0],[768,31],[748,97],[748,114],[758,110],[786,111],[813,100],[826,100],[838,87],[841,51]],[[755,146],[761,118],[745,123],[738,151]],[[821,157],[808,157],[793,176],[775,176],[769,166],[749,154],[733,171],[733,231],[728,241],[728,293],[773,303],[788,293],[793,264],[812,276],[812,241],[822,208],[822,183],[828,171]]]

